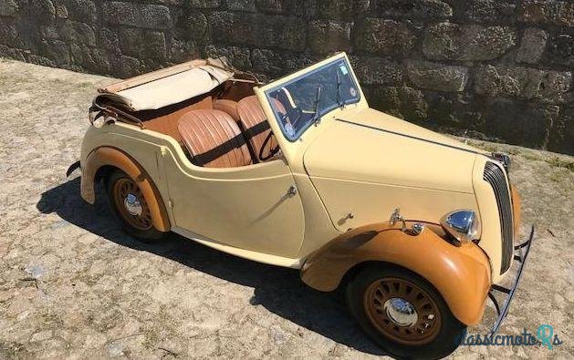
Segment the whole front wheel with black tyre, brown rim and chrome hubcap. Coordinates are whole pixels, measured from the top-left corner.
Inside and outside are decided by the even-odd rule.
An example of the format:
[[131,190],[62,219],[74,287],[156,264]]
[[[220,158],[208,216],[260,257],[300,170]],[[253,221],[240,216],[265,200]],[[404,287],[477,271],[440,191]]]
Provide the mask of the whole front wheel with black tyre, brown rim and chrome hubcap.
[[363,268],[347,286],[347,301],[374,342],[402,358],[449,355],[466,329],[431,283],[391,265]]

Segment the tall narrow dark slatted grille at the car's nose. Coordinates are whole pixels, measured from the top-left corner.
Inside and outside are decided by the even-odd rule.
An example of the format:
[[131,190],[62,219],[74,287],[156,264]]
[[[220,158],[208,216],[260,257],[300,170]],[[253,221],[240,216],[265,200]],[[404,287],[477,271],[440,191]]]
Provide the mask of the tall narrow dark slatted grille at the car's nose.
[[498,217],[500,219],[500,231],[502,237],[502,262],[500,273],[506,273],[512,262],[514,250],[512,203],[506,183],[506,176],[500,167],[493,162],[486,162],[483,179],[492,186],[495,191],[496,204],[498,205]]

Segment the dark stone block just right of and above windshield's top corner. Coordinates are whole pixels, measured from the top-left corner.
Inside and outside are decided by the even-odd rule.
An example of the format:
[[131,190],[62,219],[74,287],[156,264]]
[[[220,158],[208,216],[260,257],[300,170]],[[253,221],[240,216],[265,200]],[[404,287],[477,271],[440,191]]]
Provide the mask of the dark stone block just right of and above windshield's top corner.
[[359,50],[383,56],[404,56],[412,50],[415,37],[405,23],[368,17],[355,26]]

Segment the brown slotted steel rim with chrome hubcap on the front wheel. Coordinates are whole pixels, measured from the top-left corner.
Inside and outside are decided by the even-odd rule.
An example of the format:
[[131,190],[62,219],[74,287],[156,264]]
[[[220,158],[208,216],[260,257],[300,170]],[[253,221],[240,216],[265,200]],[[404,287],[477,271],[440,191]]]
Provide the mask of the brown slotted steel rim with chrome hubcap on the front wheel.
[[[399,304],[412,305],[416,319],[413,314],[409,314],[408,309],[404,316],[396,316],[397,313],[390,307],[392,299],[401,299],[403,303],[396,302]],[[379,333],[399,344],[428,344],[441,328],[441,314],[433,298],[409,281],[399,278],[378,279],[367,287],[363,300],[370,323]]]

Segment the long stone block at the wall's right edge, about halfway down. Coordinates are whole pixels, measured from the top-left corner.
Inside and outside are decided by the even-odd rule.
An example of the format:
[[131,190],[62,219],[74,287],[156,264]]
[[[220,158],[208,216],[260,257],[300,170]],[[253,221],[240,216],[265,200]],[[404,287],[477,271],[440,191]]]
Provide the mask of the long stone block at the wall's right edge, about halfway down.
[[564,102],[572,87],[569,71],[528,67],[485,66],[475,74],[475,91],[490,97],[520,98],[546,103]]

